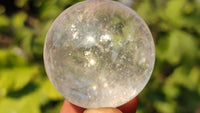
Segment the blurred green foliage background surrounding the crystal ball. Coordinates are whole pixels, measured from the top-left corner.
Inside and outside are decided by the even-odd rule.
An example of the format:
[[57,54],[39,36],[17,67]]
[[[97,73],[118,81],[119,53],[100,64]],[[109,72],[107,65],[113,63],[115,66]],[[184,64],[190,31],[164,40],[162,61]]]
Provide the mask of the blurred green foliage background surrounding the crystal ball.
[[[0,1],[0,113],[58,113],[63,98],[44,71],[53,20],[81,0]],[[137,113],[200,113],[200,0],[134,0],[156,44]],[[111,6],[112,7],[112,6]]]

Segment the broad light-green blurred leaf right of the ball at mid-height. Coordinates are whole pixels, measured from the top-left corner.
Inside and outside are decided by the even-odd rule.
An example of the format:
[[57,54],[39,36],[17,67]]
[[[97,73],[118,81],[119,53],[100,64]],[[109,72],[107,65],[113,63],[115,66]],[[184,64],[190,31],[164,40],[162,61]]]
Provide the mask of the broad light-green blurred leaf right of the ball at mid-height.
[[175,30],[168,37],[160,38],[156,48],[158,58],[171,65],[180,62],[192,65],[197,59],[197,43],[195,38],[183,31]]

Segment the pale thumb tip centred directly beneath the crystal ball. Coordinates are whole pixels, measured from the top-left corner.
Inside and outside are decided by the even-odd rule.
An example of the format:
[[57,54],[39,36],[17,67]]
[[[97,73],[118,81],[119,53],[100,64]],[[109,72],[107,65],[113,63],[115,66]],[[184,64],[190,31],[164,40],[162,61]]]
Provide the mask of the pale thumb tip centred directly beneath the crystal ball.
[[83,113],[122,113],[116,108],[97,108],[97,109],[87,109]]

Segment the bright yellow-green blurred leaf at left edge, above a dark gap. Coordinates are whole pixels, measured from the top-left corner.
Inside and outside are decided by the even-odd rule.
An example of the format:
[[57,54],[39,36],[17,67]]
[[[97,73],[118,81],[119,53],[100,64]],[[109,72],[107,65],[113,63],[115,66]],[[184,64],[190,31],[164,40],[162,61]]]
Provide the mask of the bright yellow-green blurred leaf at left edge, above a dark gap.
[[26,86],[38,72],[37,66],[0,70],[0,90],[16,91]]

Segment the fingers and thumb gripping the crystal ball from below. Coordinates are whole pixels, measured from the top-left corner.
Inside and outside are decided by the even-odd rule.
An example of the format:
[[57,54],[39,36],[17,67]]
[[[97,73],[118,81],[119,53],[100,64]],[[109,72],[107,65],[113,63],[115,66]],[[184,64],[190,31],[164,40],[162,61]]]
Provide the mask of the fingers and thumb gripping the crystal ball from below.
[[138,97],[117,108],[85,109],[64,101],[60,113],[135,113],[138,105]]

